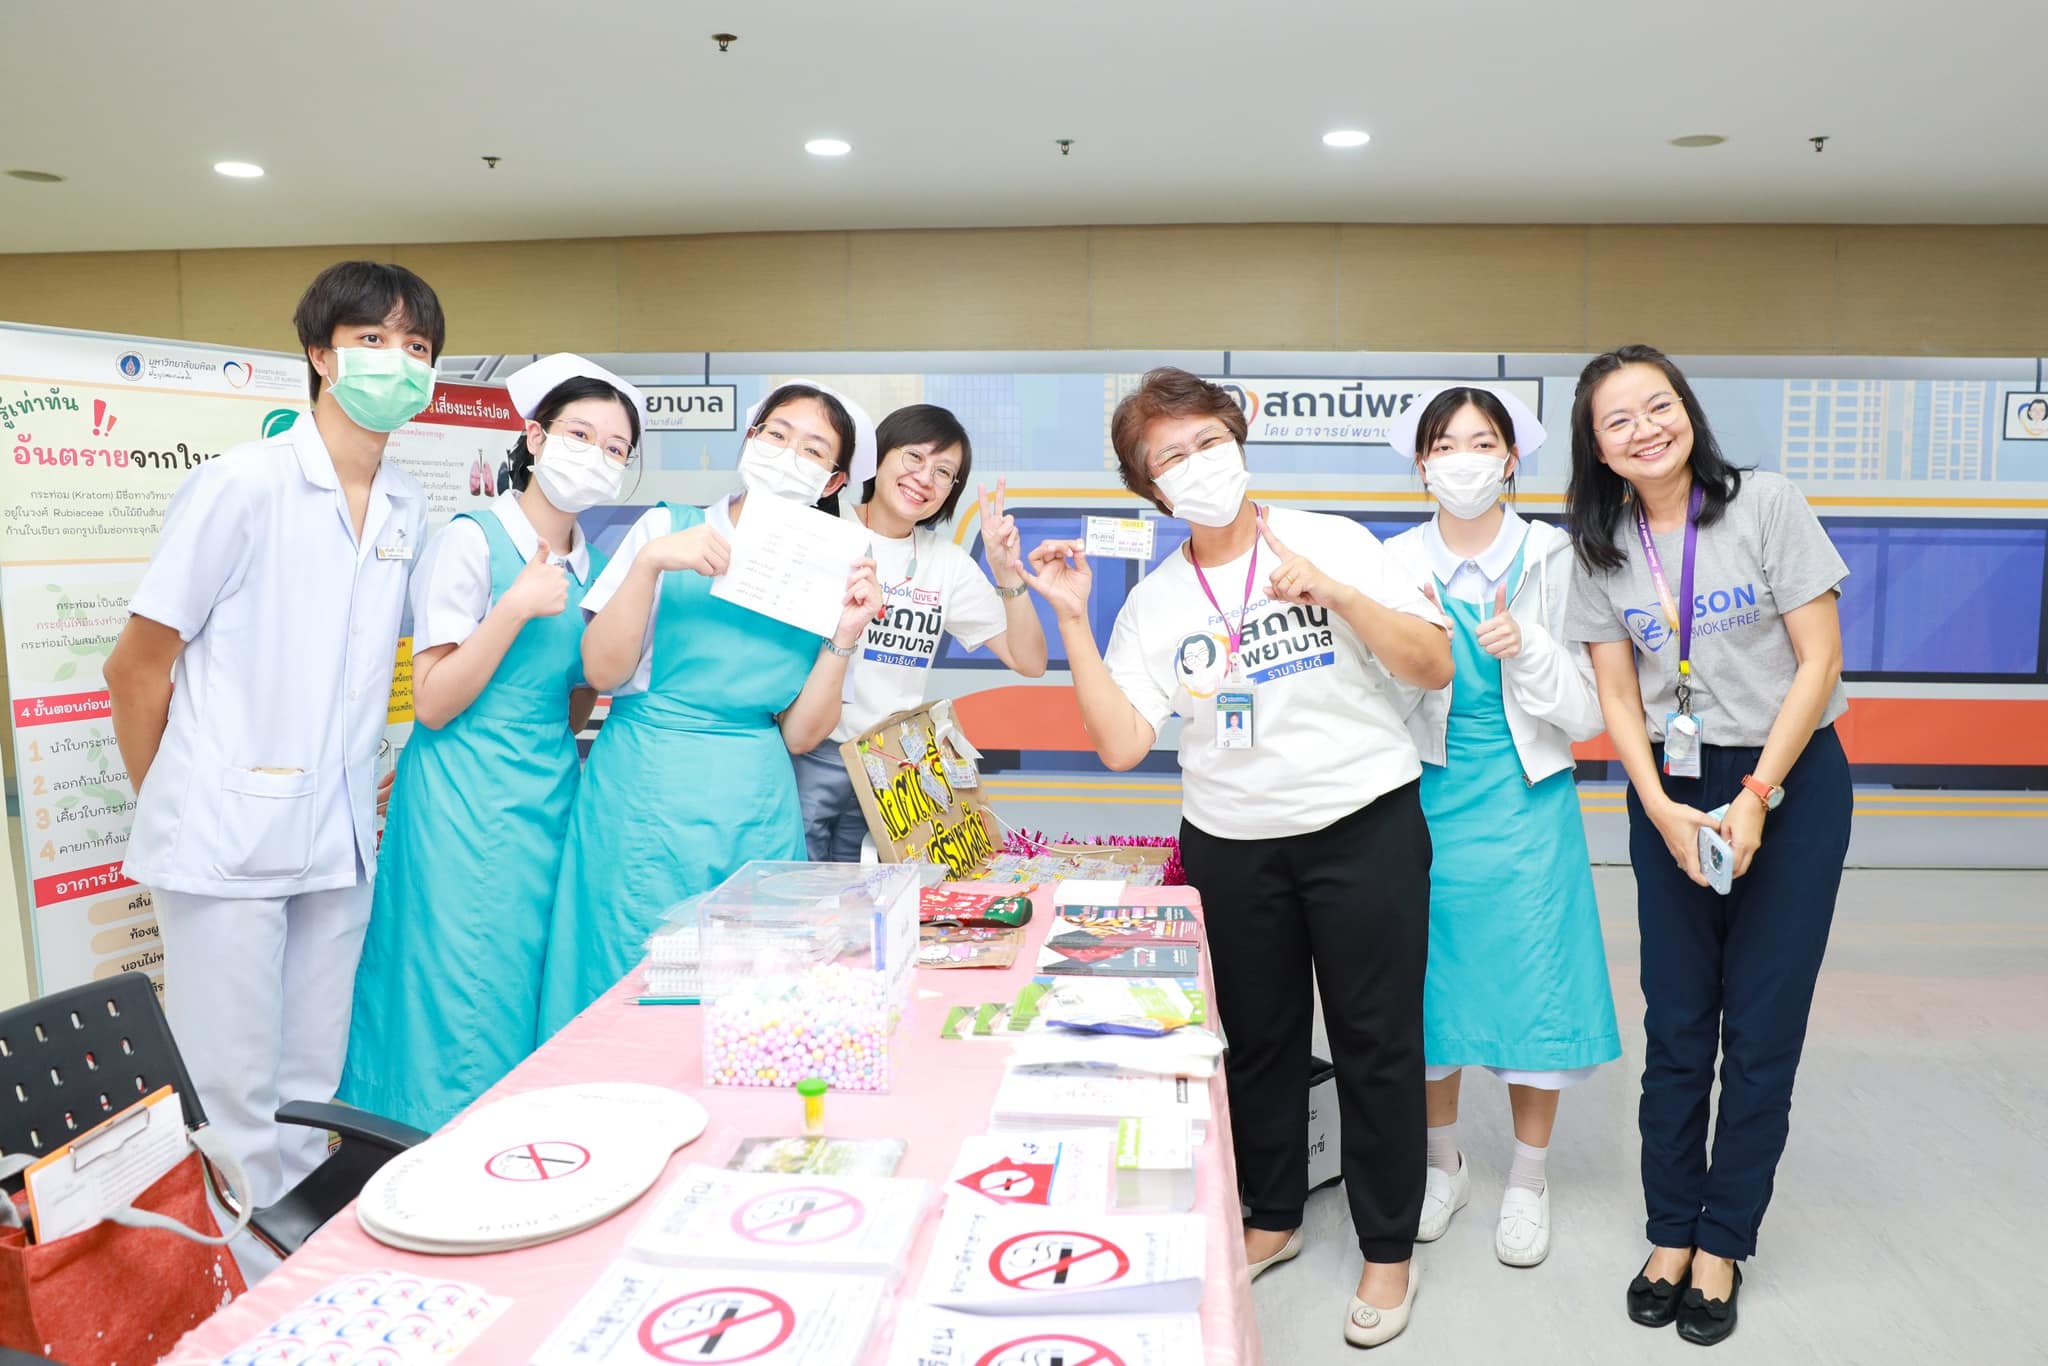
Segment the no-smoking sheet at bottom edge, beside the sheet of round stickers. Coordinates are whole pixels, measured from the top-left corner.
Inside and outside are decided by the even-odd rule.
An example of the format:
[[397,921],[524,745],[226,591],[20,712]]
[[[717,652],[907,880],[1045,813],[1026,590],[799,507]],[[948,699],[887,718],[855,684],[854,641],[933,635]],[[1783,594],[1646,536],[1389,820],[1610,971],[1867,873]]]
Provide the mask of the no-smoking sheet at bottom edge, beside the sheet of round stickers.
[[883,1305],[872,1276],[612,1262],[532,1366],[854,1366]]

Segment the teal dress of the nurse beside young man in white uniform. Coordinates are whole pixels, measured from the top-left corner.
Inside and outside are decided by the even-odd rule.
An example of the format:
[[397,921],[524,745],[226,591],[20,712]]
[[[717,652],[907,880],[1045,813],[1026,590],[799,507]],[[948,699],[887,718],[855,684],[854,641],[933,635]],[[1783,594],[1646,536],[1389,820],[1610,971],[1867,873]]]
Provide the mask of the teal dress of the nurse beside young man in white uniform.
[[[483,528],[492,602],[526,557],[498,514]],[[604,561],[592,551],[590,578]],[[588,584],[528,621],[498,672],[438,731],[414,727],[391,786],[340,1096],[440,1128],[539,1042],[561,831],[575,803],[569,690],[584,684]]]

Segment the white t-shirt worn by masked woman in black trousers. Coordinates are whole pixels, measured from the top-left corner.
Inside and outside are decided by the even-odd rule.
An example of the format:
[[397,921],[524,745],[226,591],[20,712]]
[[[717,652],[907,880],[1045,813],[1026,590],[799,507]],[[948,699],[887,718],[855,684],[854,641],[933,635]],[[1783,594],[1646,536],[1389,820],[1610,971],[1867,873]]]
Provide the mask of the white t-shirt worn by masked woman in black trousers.
[[[1407,580],[1358,522],[1272,508],[1268,524],[1329,578],[1397,612],[1444,625],[1421,584]],[[1335,612],[1276,602],[1268,582],[1280,559],[1264,541],[1251,553],[1255,567],[1247,557],[1202,567],[1223,612],[1202,592],[1186,553],[1169,555],[1130,590],[1104,655],[1110,678],[1155,731],[1176,713],[1188,719],[1180,731],[1182,813],[1225,840],[1323,829],[1421,776],[1378,657]],[[1253,684],[1253,748],[1221,750],[1217,688],[1247,571],[1253,584],[1243,672]]]

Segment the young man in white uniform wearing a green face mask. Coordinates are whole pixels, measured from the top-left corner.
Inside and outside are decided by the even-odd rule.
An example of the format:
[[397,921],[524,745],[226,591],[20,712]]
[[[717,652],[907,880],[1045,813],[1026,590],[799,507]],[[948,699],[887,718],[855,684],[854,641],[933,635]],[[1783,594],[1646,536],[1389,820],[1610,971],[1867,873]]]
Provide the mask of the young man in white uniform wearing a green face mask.
[[446,326],[426,281],[324,270],[295,315],[313,412],[190,473],[106,661],[135,782],[127,874],[156,897],[164,1001],[270,1204],[326,1155],[281,1128],[332,1100],[377,868],[377,745],[426,494],[385,463]]

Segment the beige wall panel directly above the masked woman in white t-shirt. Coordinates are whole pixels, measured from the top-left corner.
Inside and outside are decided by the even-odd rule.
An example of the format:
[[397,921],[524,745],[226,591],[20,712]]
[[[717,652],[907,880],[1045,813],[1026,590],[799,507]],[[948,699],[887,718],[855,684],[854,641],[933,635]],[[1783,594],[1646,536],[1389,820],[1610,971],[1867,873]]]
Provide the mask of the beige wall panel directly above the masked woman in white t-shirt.
[[1090,229],[1090,346],[1337,344],[1335,223]]

